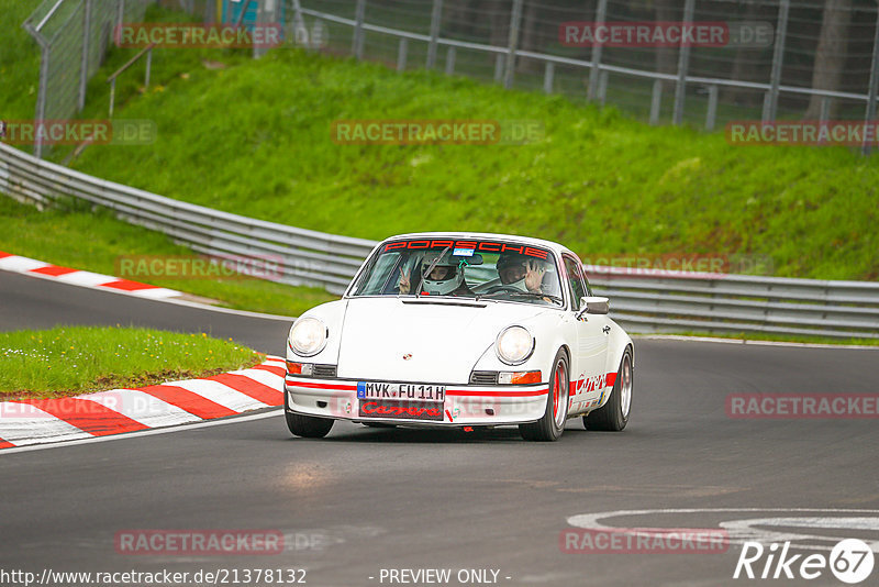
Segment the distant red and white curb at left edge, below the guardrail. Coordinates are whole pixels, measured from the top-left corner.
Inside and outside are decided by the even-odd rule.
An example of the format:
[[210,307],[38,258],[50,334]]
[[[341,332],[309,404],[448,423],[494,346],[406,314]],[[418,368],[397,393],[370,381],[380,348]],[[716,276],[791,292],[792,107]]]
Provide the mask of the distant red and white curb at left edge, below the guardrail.
[[144,298],[166,299],[183,296],[182,292],[174,289],[140,284],[137,281],[120,279],[119,277],[109,275],[71,269],[69,267],[60,267],[58,265],[52,265],[51,263],[13,255],[2,251],[0,251],[0,269],[35,277],[57,279],[58,281],[76,286],[93,287],[132,296],[141,296]]

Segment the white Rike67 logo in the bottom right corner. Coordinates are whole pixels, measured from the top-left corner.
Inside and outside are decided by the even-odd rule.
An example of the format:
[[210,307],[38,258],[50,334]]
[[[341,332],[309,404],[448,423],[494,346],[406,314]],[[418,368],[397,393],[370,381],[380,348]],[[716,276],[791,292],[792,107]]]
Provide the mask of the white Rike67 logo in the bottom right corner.
[[735,566],[733,578],[749,579],[801,578],[806,580],[826,577],[830,572],[841,582],[855,585],[872,573],[875,556],[863,540],[846,539],[838,542],[830,555],[790,554],[790,542],[774,542],[764,547],[759,542],[745,542]]

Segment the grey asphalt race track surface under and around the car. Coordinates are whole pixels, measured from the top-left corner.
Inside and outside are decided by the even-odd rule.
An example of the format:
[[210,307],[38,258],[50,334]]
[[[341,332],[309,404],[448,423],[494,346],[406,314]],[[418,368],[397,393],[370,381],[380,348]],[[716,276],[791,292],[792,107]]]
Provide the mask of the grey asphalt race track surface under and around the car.
[[[282,353],[289,328],[0,272],[0,329],[59,323],[204,330],[274,354]],[[754,524],[814,528],[805,533],[877,543],[876,419],[731,419],[725,400],[739,392],[876,394],[878,365],[879,351],[639,340],[633,417],[622,433],[589,432],[572,420],[559,442],[538,444],[514,429],[336,423],[314,441],[291,438],[276,411],[0,454],[0,568],[37,576],[237,569],[240,577],[245,569],[305,569],[311,586],[390,585],[388,569],[425,568],[452,569],[447,585],[805,584],[734,580],[736,544],[698,554],[563,553],[559,536],[578,514],[687,509],[697,511],[608,514],[604,523],[716,529],[770,519]],[[715,509],[725,511],[705,511]],[[819,511],[828,509],[860,512]],[[262,556],[116,552],[118,533],[143,529],[278,530],[285,549]],[[460,569],[488,569],[487,579],[459,582]],[[828,572],[808,583],[843,585]],[[879,569],[864,583],[877,584]]]

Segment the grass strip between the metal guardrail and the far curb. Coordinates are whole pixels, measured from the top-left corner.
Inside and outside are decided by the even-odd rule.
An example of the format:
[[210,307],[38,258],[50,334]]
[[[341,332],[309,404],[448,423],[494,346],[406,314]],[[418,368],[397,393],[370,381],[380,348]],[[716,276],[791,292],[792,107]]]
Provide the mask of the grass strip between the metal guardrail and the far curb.
[[[104,211],[49,209],[41,213],[34,207],[0,197],[0,251],[105,275],[114,274],[116,259],[123,255],[192,254],[164,234],[132,226]],[[335,299],[322,289],[263,279],[134,280],[219,300],[229,308],[281,315],[299,315]]]

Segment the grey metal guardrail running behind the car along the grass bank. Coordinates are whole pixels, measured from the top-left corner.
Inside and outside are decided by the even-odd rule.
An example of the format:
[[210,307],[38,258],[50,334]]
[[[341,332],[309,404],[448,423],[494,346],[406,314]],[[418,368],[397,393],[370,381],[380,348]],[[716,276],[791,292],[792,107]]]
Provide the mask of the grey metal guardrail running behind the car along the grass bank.
[[[341,294],[374,241],[255,220],[156,196],[41,160],[0,143],[0,193],[114,210],[205,255],[279,261],[279,280]],[[634,332],[764,332],[879,337],[879,283],[586,266],[611,315]]]

